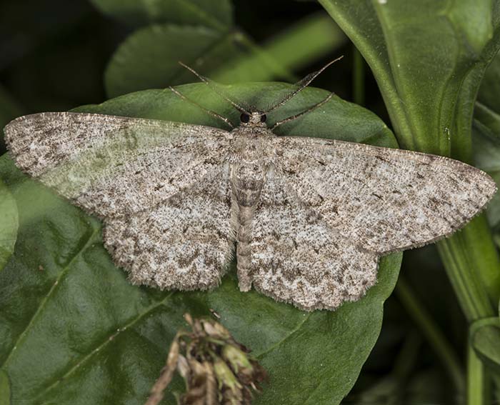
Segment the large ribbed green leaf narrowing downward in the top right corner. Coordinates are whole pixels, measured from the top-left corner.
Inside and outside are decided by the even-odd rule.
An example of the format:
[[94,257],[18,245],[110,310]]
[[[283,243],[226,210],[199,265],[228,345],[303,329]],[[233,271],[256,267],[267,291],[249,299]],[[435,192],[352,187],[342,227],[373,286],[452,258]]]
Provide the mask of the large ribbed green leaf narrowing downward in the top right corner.
[[500,46],[499,1],[319,2],[371,66],[400,144],[469,161],[474,97]]

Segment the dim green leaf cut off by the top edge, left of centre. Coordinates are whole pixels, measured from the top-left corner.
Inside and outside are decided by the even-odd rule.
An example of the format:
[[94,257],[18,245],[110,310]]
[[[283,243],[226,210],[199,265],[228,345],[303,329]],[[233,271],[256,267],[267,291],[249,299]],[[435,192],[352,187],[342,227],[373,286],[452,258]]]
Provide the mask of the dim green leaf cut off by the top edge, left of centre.
[[230,0],[91,0],[104,14],[134,26],[174,23],[223,30],[231,24]]

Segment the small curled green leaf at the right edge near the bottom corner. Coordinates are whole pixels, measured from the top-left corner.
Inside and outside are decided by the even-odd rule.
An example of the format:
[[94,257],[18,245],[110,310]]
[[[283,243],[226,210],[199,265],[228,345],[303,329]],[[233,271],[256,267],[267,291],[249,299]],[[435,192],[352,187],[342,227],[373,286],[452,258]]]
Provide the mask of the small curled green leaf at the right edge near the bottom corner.
[[470,327],[470,344],[479,358],[496,372],[500,371],[500,319],[479,319]]

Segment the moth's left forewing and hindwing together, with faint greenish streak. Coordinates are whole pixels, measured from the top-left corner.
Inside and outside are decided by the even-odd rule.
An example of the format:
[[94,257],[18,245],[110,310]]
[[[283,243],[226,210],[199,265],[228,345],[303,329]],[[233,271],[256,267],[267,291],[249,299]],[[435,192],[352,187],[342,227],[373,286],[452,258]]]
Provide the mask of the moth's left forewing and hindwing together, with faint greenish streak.
[[104,218],[104,241],[131,281],[219,284],[232,251],[231,134],[170,121],[76,113],[24,116],[5,129],[18,166]]

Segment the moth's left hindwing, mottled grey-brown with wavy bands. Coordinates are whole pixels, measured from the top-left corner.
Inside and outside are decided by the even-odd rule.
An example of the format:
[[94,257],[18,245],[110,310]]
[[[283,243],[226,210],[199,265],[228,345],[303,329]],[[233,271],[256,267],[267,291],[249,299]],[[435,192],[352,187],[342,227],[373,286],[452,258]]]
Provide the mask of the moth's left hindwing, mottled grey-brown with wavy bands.
[[151,210],[106,219],[104,242],[134,284],[161,289],[218,286],[231,259],[227,166]]

